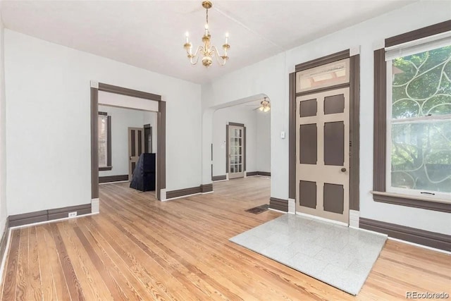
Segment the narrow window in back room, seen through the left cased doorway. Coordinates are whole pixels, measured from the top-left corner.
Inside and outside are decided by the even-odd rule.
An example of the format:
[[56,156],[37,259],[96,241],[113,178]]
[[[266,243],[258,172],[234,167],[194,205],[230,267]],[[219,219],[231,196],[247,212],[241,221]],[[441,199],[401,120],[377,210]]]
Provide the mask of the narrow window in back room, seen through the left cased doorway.
[[99,112],[99,171],[111,171],[111,116]]

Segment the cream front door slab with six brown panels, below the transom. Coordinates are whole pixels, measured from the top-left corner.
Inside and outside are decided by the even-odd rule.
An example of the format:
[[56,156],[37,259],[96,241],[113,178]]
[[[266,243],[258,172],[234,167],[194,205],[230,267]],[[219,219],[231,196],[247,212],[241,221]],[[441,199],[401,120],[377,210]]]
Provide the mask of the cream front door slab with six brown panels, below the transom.
[[296,211],[349,223],[349,88],[296,102]]

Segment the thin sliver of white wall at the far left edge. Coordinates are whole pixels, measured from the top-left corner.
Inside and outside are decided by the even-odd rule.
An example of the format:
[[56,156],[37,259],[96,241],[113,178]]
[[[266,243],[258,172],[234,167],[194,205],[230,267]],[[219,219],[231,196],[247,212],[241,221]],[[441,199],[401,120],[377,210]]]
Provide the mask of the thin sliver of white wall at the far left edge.
[[4,68],[4,26],[0,13],[0,235],[4,232],[6,217],[6,93]]

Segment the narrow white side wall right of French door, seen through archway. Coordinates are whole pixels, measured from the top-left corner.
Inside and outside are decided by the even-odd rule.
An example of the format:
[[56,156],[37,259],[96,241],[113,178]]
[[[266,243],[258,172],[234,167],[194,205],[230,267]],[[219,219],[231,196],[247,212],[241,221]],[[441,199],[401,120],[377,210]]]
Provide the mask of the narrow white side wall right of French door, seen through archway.
[[257,117],[257,171],[271,172],[271,111],[255,111]]

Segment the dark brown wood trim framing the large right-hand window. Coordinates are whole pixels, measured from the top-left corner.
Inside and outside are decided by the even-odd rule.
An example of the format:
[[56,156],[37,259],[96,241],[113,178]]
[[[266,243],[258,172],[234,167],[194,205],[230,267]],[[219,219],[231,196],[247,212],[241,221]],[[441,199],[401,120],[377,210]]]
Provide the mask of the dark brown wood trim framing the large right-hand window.
[[[414,41],[431,35],[450,31],[451,20],[412,30],[402,35],[385,39],[385,47],[392,47],[405,42]],[[386,192],[386,149],[387,149],[387,84],[386,84],[385,48],[374,51],[374,144],[373,144],[373,200],[406,207],[414,207],[433,211],[450,212],[450,204],[435,202],[421,197],[404,197],[392,194],[381,195]]]

